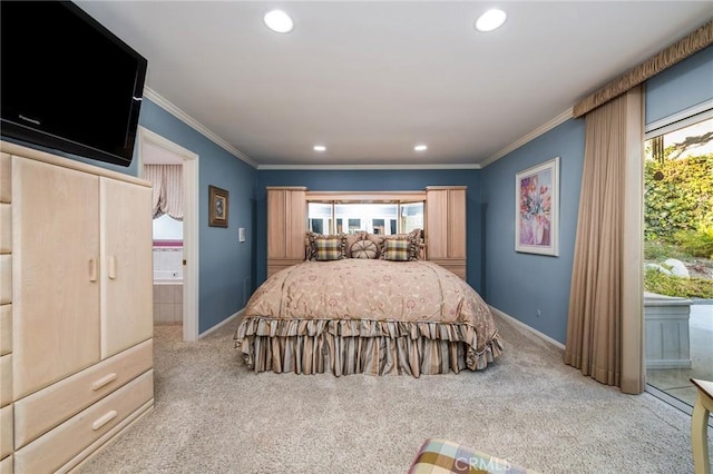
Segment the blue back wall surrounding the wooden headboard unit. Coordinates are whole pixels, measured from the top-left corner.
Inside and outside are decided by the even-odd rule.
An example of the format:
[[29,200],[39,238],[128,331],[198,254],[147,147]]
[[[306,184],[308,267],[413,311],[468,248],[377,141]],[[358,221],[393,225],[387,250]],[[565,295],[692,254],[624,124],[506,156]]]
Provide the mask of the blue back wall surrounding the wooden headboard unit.
[[[266,186],[305,186],[312,191],[380,191],[421,190],[427,186],[468,186],[468,283],[479,290],[481,285],[481,213],[480,170],[478,169],[410,169],[410,170],[297,170],[258,171],[256,196],[256,229],[267,233]],[[267,273],[267,241],[257,239],[257,283]]]

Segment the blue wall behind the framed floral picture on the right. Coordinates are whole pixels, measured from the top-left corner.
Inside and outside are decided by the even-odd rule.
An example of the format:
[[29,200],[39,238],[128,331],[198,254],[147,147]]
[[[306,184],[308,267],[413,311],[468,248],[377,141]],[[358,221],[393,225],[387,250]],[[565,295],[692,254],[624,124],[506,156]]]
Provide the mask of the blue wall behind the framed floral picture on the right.
[[[482,295],[488,304],[563,344],[567,336],[584,137],[584,120],[567,120],[481,171]],[[559,256],[518,254],[515,251],[515,175],[557,156],[560,157]]]

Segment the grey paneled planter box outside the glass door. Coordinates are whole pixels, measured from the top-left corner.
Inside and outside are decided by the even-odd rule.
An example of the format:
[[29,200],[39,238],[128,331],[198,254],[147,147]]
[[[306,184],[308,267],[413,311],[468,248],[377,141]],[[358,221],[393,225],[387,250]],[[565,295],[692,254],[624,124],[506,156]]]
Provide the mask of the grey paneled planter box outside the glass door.
[[646,368],[690,368],[691,299],[644,293]]

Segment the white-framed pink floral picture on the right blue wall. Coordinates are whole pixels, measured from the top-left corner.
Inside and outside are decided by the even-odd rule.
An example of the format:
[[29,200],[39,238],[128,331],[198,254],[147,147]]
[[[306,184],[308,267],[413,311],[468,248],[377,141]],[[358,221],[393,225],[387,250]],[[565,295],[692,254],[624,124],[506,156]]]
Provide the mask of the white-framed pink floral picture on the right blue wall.
[[515,175],[515,250],[559,256],[559,157]]

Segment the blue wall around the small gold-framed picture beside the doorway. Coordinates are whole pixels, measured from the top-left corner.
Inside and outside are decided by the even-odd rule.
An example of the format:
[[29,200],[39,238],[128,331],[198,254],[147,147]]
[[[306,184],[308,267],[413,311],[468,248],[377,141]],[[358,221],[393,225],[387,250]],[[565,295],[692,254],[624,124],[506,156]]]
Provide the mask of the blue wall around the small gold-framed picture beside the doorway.
[[[257,171],[146,98],[139,124],[199,156],[198,332],[203,333],[243,308],[250,296],[243,284],[253,285]],[[229,192],[227,228],[208,227],[208,185]],[[245,243],[237,240],[238,227],[245,227]]]

